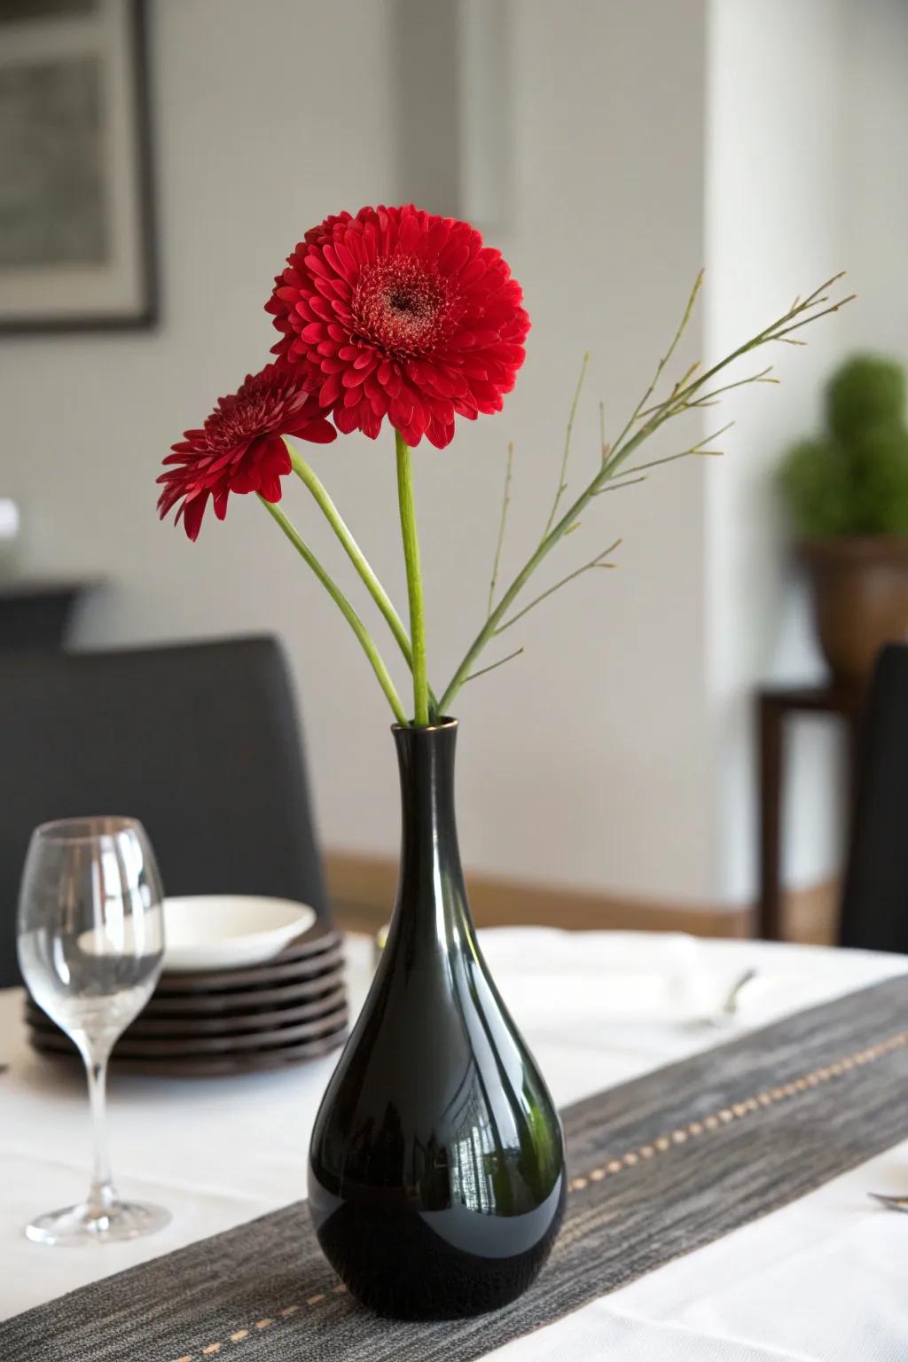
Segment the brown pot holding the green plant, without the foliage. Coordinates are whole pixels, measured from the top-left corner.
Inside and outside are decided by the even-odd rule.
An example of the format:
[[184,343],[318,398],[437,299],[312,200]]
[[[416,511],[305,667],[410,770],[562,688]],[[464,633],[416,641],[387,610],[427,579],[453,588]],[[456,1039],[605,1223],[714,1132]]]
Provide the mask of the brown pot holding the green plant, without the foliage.
[[885,643],[908,643],[908,537],[802,541],[820,646],[833,680],[870,680]]

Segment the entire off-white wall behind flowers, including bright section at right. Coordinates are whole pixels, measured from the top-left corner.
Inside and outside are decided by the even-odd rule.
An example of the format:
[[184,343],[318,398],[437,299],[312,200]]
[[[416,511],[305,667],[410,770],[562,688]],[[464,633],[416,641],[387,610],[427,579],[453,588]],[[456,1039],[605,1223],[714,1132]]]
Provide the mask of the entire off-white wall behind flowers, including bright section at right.
[[[324,840],[392,854],[391,716],[346,627],[255,500],[234,498],[226,524],[211,518],[192,546],[158,524],[154,478],[182,428],[264,362],[263,302],[306,226],[417,191],[449,210],[456,177],[438,173],[433,189],[436,168],[415,159],[427,139],[399,136],[412,99],[399,97],[411,57],[398,25],[412,0],[157,0],[150,11],[163,323],[0,342],[0,492],[25,508],[27,567],[109,579],[82,616],[83,646],[282,633]],[[464,424],[448,451],[419,449],[437,686],[485,607],[506,443],[517,447],[513,571],[549,511],[584,349],[577,485],[595,467],[596,399],[614,432],[704,262],[687,360],[717,354],[852,256],[875,300],[855,312],[852,335],[908,342],[908,306],[888,304],[893,275],[904,298],[900,0],[510,0],[509,18],[513,184],[494,244],[534,330],[504,414]],[[434,116],[433,144],[448,146],[451,121]],[[540,607],[506,637],[525,655],[459,699],[470,865],[658,900],[750,896],[747,695],[773,670],[817,666],[768,477],[814,421],[848,335],[826,324],[807,351],[779,355],[780,390],[730,405],[739,425],[721,467],[670,466],[603,498],[553,558],[540,586],[625,537],[618,571]],[[652,452],[702,430],[692,424]],[[391,437],[340,439],[313,462],[403,603]],[[289,488],[287,505],[343,575],[302,488]],[[391,644],[387,658],[403,686]],[[806,880],[829,864],[833,823],[811,774],[828,753],[802,765],[799,808],[813,812],[798,817],[792,869]]]

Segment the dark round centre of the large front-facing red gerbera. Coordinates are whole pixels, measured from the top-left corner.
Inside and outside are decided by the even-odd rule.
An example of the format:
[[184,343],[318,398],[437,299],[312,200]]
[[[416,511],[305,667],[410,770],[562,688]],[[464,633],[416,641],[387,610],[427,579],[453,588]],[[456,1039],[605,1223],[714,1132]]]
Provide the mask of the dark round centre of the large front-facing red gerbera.
[[460,308],[437,270],[412,256],[389,256],[359,275],[353,313],[363,339],[391,354],[418,355],[448,339]]

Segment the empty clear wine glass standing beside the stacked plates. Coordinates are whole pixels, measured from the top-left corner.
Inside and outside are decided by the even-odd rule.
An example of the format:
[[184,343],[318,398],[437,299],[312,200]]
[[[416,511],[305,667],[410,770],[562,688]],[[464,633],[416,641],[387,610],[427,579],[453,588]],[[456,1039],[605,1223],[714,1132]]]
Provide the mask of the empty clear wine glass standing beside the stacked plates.
[[161,1207],[120,1200],[105,1133],[110,1050],[161,974],[162,900],[154,851],[136,819],[65,819],[31,834],[19,891],[19,966],[35,1002],[79,1047],[94,1125],[88,1196],[29,1224],[26,1235],[37,1244],[133,1239],[170,1220]]

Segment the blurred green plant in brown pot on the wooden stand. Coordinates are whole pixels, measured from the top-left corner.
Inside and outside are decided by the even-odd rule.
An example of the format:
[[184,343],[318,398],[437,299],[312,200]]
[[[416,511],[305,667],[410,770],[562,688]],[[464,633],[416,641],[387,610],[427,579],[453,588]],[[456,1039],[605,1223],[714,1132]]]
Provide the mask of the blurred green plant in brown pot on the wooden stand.
[[862,688],[885,643],[908,640],[905,373],[855,355],[826,388],[826,429],[787,454],[781,492],[836,684]]

